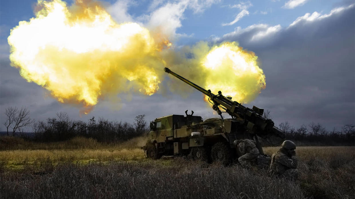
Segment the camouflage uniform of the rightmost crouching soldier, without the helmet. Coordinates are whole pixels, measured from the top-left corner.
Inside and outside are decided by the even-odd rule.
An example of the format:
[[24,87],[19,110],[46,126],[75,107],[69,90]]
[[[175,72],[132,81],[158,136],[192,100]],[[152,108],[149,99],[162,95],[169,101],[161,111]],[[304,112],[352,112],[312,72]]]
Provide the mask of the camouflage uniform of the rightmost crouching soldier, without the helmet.
[[286,149],[281,148],[272,155],[270,170],[276,176],[296,179],[298,177],[298,160],[295,155],[289,157]]

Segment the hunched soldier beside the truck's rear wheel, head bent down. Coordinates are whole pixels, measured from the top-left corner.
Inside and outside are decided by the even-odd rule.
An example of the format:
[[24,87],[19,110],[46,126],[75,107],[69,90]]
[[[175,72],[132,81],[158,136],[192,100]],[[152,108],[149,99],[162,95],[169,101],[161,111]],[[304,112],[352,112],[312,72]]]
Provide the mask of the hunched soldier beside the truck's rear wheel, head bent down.
[[259,155],[256,142],[250,139],[240,139],[234,140],[233,144],[237,149],[237,153],[240,155],[238,158],[239,163],[244,167],[250,167],[250,163],[255,161]]

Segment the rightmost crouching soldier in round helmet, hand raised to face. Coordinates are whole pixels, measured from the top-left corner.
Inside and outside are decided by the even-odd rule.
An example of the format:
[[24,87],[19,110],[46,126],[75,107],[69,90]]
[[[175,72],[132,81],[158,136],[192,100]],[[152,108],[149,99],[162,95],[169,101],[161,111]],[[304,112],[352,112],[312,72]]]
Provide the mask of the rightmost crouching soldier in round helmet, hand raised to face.
[[282,143],[282,148],[272,155],[270,170],[273,175],[297,179],[298,170],[295,149],[296,144],[290,140],[285,140]]

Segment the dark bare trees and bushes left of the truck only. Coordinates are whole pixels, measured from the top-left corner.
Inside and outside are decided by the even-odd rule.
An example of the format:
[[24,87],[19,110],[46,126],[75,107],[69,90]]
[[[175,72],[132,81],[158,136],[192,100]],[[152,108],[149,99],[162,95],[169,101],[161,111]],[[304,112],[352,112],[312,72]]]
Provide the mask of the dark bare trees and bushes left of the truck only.
[[[45,121],[31,120],[29,110],[22,107],[8,107],[5,110],[7,135],[19,135],[39,142],[57,142],[76,136],[94,138],[99,142],[122,142],[147,133],[145,115],[135,117],[133,124],[128,122],[109,121],[104,118],[92,117],[88,122],[71,120],[65,112],[59,112],[56,117]],[[32,128],[33,133],[24,133],[24,128]]]

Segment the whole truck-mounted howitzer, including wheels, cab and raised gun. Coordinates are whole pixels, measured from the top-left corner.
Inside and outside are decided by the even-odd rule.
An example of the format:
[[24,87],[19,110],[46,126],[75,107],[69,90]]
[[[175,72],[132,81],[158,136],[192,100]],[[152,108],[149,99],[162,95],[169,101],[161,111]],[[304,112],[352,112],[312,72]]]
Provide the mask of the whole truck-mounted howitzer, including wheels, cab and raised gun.
[[[193,115],[193,111],[187,114],[187,110],[186,116],[169,115],[156,118],[150,123],[146,144],[141,147],[148,158],[188,155],[194,160],[219,161],[226,165],[243,155],[241,151],[236,150],[235,140],[254,140],[261,155],[263,149],[258,136],[270,144],[274,144],[271,137],[281,138],[283,141],[284,133],[274,127],[272,120],[262,116],[263,109],[256,106],[250,109],[232,101],[230,96],[224,96],[220,91],[218,95],[213,94],[211,90],[192,83],[169,68],[164,68],[164,71],[207,95],[213,104],[213,110],[217,111],[220,118],[208,118],[203,121],[201,116]],[[223,118],[221,109],[231,118]]]

